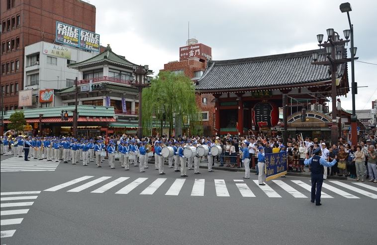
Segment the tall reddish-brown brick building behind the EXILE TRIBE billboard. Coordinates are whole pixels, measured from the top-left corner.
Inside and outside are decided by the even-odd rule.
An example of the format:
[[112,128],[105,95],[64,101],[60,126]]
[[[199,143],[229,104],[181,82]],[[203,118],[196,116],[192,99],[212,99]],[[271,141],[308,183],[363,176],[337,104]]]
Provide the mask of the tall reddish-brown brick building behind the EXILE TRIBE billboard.
[[[81,0],[0,0],[1,89],[4,111],[17,109],[24,47],[55,41],[56,21],[95,31],[95,6]],[[0,130],[2,131],[2,130]]]

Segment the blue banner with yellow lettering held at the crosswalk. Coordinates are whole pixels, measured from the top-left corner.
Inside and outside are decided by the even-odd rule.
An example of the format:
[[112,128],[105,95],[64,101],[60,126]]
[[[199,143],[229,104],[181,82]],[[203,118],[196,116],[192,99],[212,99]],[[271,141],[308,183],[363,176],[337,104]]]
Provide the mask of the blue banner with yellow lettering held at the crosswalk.
[[286,175],[286,152],[266,154],[265,159],[266,181]]

